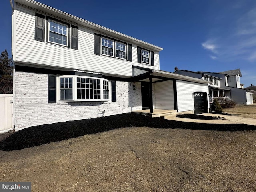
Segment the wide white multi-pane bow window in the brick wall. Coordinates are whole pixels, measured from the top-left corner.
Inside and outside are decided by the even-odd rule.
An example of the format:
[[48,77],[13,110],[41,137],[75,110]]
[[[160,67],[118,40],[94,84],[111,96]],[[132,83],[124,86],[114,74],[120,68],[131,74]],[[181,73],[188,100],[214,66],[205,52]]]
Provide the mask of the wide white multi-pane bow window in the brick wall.
[[60,76],[60,101],[109,100],[109,81],[85,76]]

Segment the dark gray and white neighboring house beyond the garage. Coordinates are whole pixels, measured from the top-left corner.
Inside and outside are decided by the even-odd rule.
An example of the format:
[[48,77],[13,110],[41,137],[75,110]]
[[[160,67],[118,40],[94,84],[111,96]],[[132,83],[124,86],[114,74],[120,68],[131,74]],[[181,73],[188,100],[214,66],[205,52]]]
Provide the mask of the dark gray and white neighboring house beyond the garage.
[[216,73],[194,72],[175,68],[174,73],[211,81],[212,84],[209,86],[211,98],[227,97],[238,104],[251,104],[247,102],[248,94],[246,94],[246,90],[243,88],[244,85],[240,83],[240,77],[242,77],[240,69]]

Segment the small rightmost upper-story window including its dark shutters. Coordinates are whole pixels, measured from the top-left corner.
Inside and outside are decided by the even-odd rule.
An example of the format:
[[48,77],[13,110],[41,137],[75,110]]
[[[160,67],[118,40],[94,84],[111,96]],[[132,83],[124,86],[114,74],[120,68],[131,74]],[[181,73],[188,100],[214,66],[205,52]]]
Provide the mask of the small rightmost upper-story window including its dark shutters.
[[138,63],[154,66],[154,52],[137,47]]

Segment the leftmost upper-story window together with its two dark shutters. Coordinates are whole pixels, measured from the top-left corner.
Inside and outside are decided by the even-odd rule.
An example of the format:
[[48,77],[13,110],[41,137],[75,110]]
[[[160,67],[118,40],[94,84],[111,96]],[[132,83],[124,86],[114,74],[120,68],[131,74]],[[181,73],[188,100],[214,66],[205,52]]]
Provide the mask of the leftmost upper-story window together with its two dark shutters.
[[37,13],[35,19],[35,40],[78,50],[78,27]]

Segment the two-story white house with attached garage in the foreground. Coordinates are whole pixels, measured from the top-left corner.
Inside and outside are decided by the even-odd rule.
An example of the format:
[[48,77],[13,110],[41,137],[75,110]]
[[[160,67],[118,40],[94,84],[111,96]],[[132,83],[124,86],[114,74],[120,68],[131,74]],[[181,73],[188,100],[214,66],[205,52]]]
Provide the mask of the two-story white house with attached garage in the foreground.
[[208,112],[210,82],[161,71],[161,50],[34,0],[14,0],[15,130],[136,111]]

